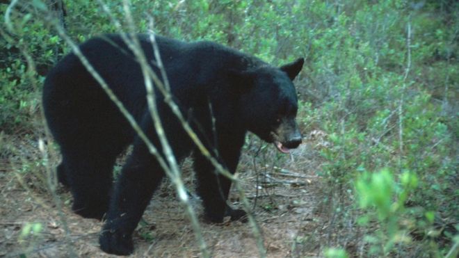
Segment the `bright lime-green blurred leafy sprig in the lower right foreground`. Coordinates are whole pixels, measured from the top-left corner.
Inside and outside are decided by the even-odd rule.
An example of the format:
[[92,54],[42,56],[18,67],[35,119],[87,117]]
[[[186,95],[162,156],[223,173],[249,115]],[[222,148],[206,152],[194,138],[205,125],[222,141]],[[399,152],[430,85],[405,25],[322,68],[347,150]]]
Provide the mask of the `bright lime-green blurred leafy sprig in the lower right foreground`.
[[387,169],[372,174],[364,172],[357,179],[355,188],[360,208],[368,210],[358,221],[361,225],[368,225],[370,221],[379,224],[376,232],[365,238],[371,245],[371,255],[387,256],[397,243],[410,241],[408,230],[401,225],[412,225],[412,221],[407,221],[411,218],[405,209],[405,201],[417,184],[414,173],[405,171],[396,181]]

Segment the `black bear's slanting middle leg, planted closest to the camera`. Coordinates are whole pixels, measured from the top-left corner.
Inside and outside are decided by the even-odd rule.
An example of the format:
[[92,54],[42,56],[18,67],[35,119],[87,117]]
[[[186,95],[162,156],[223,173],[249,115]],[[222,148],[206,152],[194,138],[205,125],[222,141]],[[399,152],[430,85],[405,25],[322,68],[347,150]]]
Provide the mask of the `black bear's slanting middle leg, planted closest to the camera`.
[[142,158],[134,150],[116,183],[107,220],[99,237],[100,248],[104,252],[129,255],[134,251],[132,233],[163,178],[162,171],[153,156]]

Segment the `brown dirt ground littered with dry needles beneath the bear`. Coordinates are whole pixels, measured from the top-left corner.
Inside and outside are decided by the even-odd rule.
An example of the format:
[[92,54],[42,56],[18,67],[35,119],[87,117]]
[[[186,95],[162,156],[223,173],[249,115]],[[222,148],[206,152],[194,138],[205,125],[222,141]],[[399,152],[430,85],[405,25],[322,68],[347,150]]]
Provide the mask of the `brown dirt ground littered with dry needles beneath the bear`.
[[[273,150],[265,152],[263,159],[254,159],[254,148],[245,147],[237,175],[261,228],[267,257],[321,256],[321,244],[307,237],[321,227],[316,209],[321,202],[316,145],[309,140],[280,159],[271,145],[267,147]],[[38,179],[27,177],[19,184],[20,174],[12,171],[8,160],[0,161],[0,257],[111,257],[99,250],[102,223],[72,213],[68,191],[57,191],[63,205],[59,211],[51,194],[34,187]],[[184,161],[182,171],[187,184],[193,185],[190,160]],[[201,214],[199,200],[192,200]],[[238,200],[232,189],[234,207],[241,207]],[[143,219],[134,233],[133,257],[200,257],[191,224],[169,182],[156,191]],[[30,223],[40,223],[39,232],[22,235]],[[259,257],[249,223],[202,222],[201,228],[212,257]]]

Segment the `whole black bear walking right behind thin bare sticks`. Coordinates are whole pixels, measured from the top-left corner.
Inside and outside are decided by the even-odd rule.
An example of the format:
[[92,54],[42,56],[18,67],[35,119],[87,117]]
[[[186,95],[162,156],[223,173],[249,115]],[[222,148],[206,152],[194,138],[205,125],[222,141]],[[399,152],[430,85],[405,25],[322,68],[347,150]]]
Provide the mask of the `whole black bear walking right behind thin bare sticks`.
[[[160,74],[150,37],[126,37],[136,37],[152,70]],[[274,143],[281,152],[301,143],[292,80],[303,67],[303,58],[277,68],[214,42],[181,42],[161,36],[156,36],[156,42],[173,101],[227,170],[235,172],[247,131]],[[162,150],[148,109],[142,70],[121,35],[102,35],[79,49]],[[193,153],[205,218],[216,223],[225,216],[242,218],[245,211],[234,210],[226,202],[230,180],[215,172],[158,88],[154,92],[175,157],[180,160]],[[161,166],[75,54],[65,56],[49,72],[43,107],[49,129],[61,147],[58,180],[70,186],[72,209],[86,218],[102,219],[106,213],[99,239],[102,250],[116,255],[131,253],[132,233],[165,175]],[[112,190],[113,163],[130,144],[134,148]]]

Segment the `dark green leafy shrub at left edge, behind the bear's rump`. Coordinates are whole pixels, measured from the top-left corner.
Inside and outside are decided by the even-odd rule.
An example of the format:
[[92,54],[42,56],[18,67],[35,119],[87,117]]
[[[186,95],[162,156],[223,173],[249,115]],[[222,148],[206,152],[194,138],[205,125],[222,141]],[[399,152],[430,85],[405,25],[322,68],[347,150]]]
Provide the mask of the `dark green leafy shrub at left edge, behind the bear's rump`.
[[[6,7],[0,5],[0,13]],[[8,134],[28,129],[38,113],[37,84],[56,62],[54,52],[61,42],[30,13],[13,13],[11,18],[16,22],[0,24],[0,131]]]

